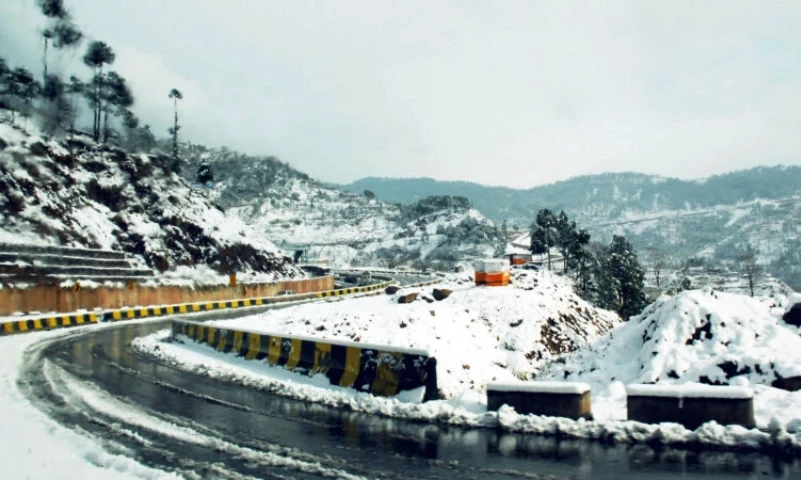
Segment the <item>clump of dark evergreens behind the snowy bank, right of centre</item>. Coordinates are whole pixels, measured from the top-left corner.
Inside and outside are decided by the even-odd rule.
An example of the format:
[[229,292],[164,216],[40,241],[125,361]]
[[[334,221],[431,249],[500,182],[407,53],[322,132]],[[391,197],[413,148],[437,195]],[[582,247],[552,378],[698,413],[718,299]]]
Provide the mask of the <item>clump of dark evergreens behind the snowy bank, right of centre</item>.
[[531,253],[544,255],[550,270],[556,249],[562,256],[562,273],[576,279],[584,298],[624,319],[645,308],[645,271],[624,236],[613,235],[609,245],[591,242],[589,232],[564,211],[554,214],[547,208],[537,212],[529,233]]

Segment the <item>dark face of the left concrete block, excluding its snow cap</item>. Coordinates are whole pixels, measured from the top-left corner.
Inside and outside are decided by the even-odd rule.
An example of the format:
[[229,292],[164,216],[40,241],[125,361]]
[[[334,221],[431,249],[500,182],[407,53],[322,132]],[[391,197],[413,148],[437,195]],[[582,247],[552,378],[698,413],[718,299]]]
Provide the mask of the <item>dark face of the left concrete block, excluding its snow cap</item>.
[[553,393],[499,391],[487,389],[487,410],[498,410],[502,405],[513,407],[517,413],[567,417],[572,419],[592,418],[590,392]]

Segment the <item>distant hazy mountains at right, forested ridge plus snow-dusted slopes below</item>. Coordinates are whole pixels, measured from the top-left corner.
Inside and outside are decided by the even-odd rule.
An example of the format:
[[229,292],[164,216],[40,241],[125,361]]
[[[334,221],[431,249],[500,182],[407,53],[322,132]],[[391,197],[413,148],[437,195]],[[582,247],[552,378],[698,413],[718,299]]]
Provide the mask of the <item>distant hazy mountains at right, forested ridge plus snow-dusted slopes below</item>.
[[387,201],[463,195],[510,230],[526,230],[541,208],[565,210],[607,242],[625,235],[639,250],[681,263],[733,264],[749,248],[777,278],[801,289],[801,167],[757,167],[704,180],[636,173],[576,177],[528,190],[431,179],[366,178],[343,186]]

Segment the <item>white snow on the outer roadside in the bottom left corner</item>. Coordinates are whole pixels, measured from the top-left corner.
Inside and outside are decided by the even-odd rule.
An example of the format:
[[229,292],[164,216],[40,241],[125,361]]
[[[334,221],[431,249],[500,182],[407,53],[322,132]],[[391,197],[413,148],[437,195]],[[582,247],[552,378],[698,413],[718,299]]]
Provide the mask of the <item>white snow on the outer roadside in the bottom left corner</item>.
[[145,467],[123,455],[106,452],[85,432],[69,430],[28,403],[20,391],[23,353],[33,344],[69,331],[0,337],[0,463],[3,478],[82,478],[97,480],[179,478]]

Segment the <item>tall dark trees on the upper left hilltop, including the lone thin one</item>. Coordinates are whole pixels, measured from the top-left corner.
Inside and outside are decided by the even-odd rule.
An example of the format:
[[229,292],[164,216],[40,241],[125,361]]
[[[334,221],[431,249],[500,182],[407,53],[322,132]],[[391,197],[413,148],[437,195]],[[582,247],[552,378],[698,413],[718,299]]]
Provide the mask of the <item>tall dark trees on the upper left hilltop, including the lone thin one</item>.
[[[72,21],[63,0],[37,0],[42,15],[47,19],[42,37],[42,77],[37,80],[24,67],[12,68],[0,57],[0,108],[11,112],[12,124],[17,117],[36,116],[48,135],[77,132],[76,119],[82,102],[92,112],[91,128],[87,132],[99,143],[114,142],[128,151],[149,152],[157,147],[157,140],[149,125],[142,125],[133,113],[135,97],[125,78],[111,69],[116,60],[112,47],[100,40],[86,40],[85,35]],[[48,70],[51,48],[75,49],[87,43],[82,57],[90,69],[87,78],[70,75],[65,79]],[[168,129],[172,137],[172,169],[180,170],[178,152],[178,100],[183,95],[171,89],[168,98],[173,101],[174,122]]]

